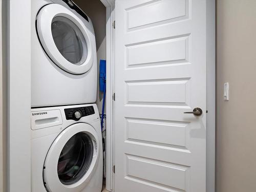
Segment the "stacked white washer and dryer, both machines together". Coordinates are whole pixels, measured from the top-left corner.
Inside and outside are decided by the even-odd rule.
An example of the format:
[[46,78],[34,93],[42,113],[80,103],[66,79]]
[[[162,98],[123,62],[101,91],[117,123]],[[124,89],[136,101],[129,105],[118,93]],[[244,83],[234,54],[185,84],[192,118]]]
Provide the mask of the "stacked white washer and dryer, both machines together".
[[92,22],[71,0],[32,1],[32,192],[99,192],[102,137]]

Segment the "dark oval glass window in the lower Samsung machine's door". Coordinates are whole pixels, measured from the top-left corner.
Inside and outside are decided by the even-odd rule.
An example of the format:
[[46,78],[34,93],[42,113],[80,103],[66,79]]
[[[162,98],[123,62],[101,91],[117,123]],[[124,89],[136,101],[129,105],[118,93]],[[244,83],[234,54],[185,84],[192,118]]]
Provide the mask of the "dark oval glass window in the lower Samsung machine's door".
[[77,133],[63,147],[58,160],[61,183],[71,185],[87,173],[93,159],[93,141],[86,133]]

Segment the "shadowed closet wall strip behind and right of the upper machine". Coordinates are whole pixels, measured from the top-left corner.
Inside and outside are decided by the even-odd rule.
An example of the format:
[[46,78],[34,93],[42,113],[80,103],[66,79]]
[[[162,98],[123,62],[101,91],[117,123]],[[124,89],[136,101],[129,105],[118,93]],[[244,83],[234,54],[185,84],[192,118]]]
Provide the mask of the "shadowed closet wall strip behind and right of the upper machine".
[[[100,0],[73,0],[92,20],[97,48],[97,65],[99,72],[100,59],[106,59],[106,8]],[[97,77],[98,78],[98,77]],[[99,92],[99,82],[97,88],[97,100],[99,112],[101,114],[103,94]]]

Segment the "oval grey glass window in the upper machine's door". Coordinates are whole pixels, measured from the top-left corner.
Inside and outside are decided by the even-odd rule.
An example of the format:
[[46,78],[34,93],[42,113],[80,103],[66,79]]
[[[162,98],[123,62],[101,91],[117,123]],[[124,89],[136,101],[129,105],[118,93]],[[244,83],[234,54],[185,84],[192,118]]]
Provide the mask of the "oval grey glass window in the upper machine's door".
[[52,36],[61,55],[74,65],[86,61],[87,42],[80,29],[70,19],[56,16],[52,20]]

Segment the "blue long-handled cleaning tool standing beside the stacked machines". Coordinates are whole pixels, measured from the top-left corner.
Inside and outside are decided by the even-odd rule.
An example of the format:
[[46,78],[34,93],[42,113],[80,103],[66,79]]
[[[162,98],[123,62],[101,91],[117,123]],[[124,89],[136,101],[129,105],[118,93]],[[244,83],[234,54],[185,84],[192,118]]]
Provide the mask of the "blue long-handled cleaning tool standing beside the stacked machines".
[[103,103],[101,111],[101,131],[103,130],[105,97],[106,97],[106,60],[100,60],[99,62],[99,90],[103,92]]

